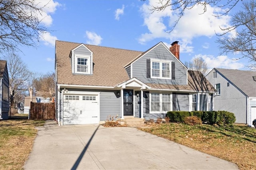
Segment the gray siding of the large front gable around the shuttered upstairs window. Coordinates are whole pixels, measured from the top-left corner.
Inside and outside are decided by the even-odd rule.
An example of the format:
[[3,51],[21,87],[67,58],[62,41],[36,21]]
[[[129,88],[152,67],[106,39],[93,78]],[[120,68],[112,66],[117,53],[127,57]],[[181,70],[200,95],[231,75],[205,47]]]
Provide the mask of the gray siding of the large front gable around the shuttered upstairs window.
[[[175,63],[175,80],[158,78],[147,78],[147,59],[168,60]],[[158,84],[187,84],[187,70],[162,44],[158,45],[146,55],[132,64],[132,77],[136,77],[144,83]]]

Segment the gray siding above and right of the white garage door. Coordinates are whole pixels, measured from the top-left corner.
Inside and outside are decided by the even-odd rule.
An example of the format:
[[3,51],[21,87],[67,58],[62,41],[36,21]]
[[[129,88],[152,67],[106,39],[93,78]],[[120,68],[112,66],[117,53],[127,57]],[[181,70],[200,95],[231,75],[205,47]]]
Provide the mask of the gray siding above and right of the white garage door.
[[[62,90],[61,88],[60,90]],[[117,118],[121,117],[121,98],[117,96],[118,90],[93,90],[93,89],[72,89],[68,88],[69,91],[77,92],[100,92],[100,121],[106,121],[108,115],[118,115]]]

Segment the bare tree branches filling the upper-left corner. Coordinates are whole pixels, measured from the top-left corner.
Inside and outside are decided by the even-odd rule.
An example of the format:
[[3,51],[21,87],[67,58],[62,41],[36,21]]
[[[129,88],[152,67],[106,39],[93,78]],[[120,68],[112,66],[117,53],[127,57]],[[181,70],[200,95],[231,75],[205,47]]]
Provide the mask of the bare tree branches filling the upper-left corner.
[[40,33],[48,32],[38,19],[44,12],[35,0],[0,0],[0,53],[18,45],[36,46]]

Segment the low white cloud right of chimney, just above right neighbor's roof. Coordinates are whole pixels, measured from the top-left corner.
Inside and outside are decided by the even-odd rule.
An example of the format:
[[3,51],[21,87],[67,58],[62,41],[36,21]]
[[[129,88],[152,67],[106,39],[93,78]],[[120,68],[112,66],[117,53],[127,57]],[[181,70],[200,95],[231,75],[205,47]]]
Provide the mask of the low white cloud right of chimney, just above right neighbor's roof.
[[212,55],[195,55],[195,57],[202,57],[206,62],[208,68],[228,68],[228,69],[242,69],[244,64],[239,63],[238,60],[232,60],[226,55],[219,55],[214,57]]

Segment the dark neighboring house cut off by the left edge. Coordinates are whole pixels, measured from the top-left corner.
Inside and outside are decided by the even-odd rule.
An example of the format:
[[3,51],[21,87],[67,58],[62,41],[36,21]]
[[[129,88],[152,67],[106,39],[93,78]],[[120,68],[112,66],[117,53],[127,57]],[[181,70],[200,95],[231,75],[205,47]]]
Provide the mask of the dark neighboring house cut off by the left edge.
[[9,76],[7,63],[0,60],[0,120],[6,120],[9,117]]

